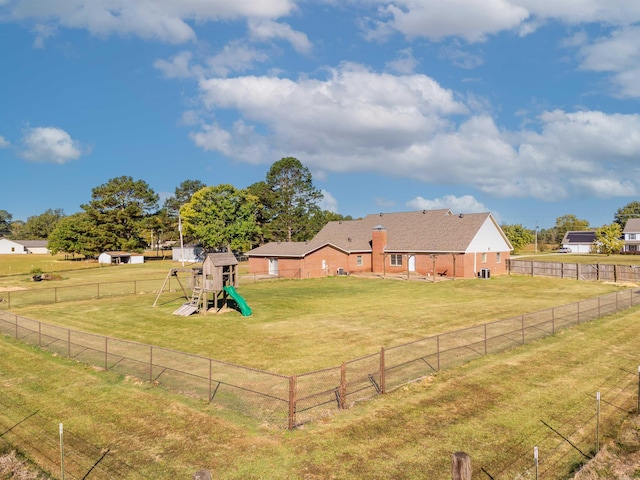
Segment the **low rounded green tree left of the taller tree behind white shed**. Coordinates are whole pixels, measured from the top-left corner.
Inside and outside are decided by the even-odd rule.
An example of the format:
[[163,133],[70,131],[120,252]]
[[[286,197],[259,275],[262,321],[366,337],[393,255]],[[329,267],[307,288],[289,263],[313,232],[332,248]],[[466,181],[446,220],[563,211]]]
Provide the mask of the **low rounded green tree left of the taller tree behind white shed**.
[[64,252],[97,257],[102,251],[99,244],[98,226],[86,212],[78,212],[60,219],[49,235],[48,247],[51,254]]

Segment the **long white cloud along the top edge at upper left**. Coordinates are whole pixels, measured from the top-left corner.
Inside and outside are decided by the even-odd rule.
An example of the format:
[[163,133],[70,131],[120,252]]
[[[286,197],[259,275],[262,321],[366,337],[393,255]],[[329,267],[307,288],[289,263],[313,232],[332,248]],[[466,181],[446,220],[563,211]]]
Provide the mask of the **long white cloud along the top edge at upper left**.
[[57,26],[79,28],[96,36],[135,35],[167,43],[195,40],[189,22],[236,18],[279,18],[291,13],[294,0],[14,0],[8,19],[36,23],[39,41]]

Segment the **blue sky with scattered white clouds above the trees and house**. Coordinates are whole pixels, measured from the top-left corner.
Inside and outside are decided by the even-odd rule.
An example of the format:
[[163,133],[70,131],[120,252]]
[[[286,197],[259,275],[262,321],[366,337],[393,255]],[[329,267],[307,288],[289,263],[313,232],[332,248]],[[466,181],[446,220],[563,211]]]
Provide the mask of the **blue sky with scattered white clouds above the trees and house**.
[[0,0],[0,209],[293,156],[354,217],[597,227],[638,200],[638,0]]

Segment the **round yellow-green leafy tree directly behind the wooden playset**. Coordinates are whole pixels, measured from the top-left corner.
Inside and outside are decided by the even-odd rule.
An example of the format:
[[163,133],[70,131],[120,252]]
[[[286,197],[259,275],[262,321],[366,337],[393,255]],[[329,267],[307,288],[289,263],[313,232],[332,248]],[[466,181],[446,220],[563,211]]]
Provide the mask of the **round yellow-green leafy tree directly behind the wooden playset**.
[[260,234],[257,204],[255,196],[233,185],[205,187],[180,209],[182,226],[206,249],[245,251]]

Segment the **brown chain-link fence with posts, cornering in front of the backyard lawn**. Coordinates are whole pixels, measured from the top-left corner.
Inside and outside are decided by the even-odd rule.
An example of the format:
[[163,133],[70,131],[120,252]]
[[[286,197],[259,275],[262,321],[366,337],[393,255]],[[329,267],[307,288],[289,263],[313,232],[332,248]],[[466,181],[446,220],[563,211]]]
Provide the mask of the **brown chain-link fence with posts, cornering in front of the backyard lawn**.
[[[140,282],[123,283],[129,284],[128,289],[112,284],[107,289],[100,284],[93,291],[96,298],[105,291],[140,292]],[[30,291],[39,302],[67,298],[60,287],[48,293],[44,290],[20,292],[19,303],[32,304],[26,293]],[[339,366],[293,376],[71,330],[8,311],[0,311],[0,333],[108,371],[206,398],[277,428],[292,429],[440,370],[632,307],[639,296],[640,290],[627,289],[381,348]]]

